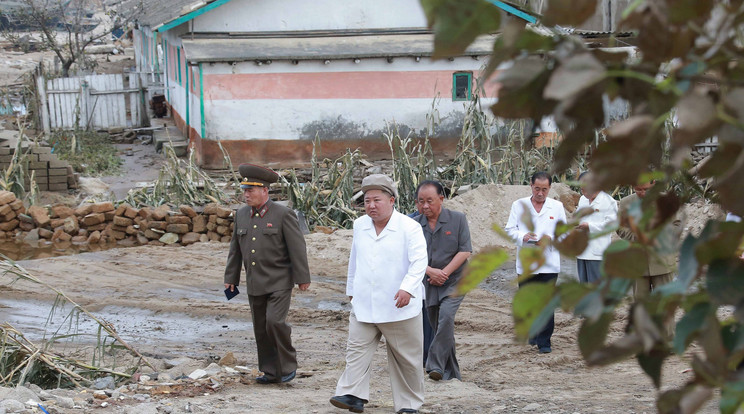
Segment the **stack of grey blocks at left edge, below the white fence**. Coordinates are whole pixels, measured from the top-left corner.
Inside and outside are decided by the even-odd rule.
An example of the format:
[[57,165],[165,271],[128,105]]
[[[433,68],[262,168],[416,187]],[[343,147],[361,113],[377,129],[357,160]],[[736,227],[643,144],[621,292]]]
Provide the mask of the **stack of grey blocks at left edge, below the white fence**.
[[[7,169],[13,158],[15,147],[0,147],[0,169]],[[77,188],[78,175],[67,161],[52,154],[50,147],[35,146],[26,155],[28,175],[24,185],[30,184],[31,174],[41,191],[66,191]]]

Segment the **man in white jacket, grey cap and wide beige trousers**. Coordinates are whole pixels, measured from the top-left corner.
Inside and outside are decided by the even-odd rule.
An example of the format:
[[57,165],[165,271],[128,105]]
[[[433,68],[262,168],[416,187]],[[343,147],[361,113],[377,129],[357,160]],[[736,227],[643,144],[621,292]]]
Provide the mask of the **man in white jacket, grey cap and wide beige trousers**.
[[421,225],[395,210],[395,183],[383,174],[362,180],[364,210],[354,221],[346,294],[351,299],[346,369],[331,404],[361,413],[369,399],[370,365],[385,336],[393,404],[417,413],[424,403],[421,317],[427,265]]

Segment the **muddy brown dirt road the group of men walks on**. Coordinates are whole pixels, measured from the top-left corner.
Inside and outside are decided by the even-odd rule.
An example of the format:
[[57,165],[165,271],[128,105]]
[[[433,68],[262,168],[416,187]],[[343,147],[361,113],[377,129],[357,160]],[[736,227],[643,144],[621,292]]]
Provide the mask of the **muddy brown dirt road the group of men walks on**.
[[[290,321],[298,349],[299,378],[284,385],[251,381],[227,384],[196,396],[125,400],[92,412],[245,413],[344,412],[328,403],[344,366],[349,304],[344,294],[350,232],[308,236],[314,281],[295,292]],[[46,282],[112,322],[120,335],[156,366],[182,356],[203,361],[233,352],[256,368],[255,343],[245,295],[229,303],[222,295],[227,245],[134,247],[21,262]],[[457,317],[456,339],[462,382],[426,382],[423,412],[654,412],[656,391],[634,361],[587,368],[575,343],[579,321],[558,313],[554,351],[539,355],[515,343],[510,298],[513,263],[468,295]],[[3,281],[6,282],[6,281]],[[0,319],[38,335],[54,297],[19,282],[0,287]],[[617,336],[622,329],[614,327]],[[671,358],[664,388],[688,379],[687,362]],[[188,375],[188,372],[185,374]],[[392,396],[381,345],[375,357],[372,395],[365,412],[392,412]],[[188,404],[188,407],[187,407]],[[154,411],[153,411],[154,410]],[[189,411],[191,410],[191,411]],[[88,412],[81,409],[58,412]],[[715,412],[715,402],[705,412]]]

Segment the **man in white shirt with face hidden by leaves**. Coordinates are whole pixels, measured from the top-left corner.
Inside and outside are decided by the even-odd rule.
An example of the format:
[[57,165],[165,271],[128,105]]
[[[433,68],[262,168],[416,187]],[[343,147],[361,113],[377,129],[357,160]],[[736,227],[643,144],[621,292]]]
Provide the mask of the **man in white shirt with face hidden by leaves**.
[[[606,231],[617,223],[617,201],[604,191],[594,190],[591,186],[591,173],[584,171],[579,175],[581,193],[576,211],[591,209],[592,213],[579,221],[578,229],[589,235]],[[607,233],[589,240],[586,249],[576,257],[576,270],[581,283],[591,283],[599,280],[602,254],[612,243],[612,234]]]

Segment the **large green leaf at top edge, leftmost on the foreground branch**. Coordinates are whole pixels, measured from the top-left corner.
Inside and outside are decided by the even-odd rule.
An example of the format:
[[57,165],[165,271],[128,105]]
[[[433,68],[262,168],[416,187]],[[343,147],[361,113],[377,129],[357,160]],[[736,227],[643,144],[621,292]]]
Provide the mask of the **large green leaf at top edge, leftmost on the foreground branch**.
[[501,9],[483,0],[421,0],[434,31],[434,58],[461,55],[481,34],[501,26]]

